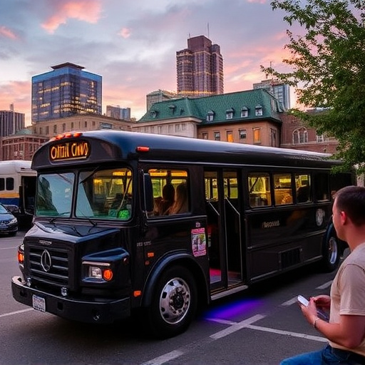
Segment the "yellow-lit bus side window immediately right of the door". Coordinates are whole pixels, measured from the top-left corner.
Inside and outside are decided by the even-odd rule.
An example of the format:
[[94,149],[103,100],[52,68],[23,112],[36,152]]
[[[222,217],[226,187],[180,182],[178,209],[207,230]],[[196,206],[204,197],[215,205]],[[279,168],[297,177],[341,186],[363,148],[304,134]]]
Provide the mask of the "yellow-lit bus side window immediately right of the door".
[[271,205],[270,178],[268,173],[248,175],[250,207]]

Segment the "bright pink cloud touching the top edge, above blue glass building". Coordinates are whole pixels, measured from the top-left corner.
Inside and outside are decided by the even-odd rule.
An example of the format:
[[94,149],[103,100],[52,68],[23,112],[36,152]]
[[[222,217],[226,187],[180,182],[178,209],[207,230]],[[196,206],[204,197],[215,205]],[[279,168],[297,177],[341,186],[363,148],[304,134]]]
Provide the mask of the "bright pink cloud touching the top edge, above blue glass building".
[[59,2],[56,14],[41,24],[48,33],[53,33],[58,26],[66,24],[68,19],[78,19],[88,23],[97,23],[101,14],[101,2],[99,0],[80,0]]

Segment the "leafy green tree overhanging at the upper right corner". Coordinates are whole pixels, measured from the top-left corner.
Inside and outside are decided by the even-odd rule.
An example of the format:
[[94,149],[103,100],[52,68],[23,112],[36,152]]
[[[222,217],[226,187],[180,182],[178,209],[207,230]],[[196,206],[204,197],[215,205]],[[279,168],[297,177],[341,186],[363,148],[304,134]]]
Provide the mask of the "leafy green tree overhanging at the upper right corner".
[[284,59],[292,70],[262,71],[297,89],[298,101],[325,113],[292,113],[318,132],[339,141],[337,158],[345,168],[361,165],[365,171],[365,1],[274,0],[272,9],[284,10],[289,26],[299,24],[302,34],[287,30]]

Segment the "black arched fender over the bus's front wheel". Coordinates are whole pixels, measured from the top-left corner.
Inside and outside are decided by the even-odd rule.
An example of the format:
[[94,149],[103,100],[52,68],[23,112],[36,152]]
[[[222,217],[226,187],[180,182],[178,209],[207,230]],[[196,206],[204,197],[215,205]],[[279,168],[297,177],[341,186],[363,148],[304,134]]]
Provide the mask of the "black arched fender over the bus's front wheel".
[[155,264],[152,272],[150,272],[145,283],[141,307],[150,306],[153,298],[153,290],[158,282],[158,279],[160,278],[161,274],[163,274],[165,269],[173,266],[173,264],[180,264],[192,270],[195,276],[197,287],[199,289],[198,292],[200,295],[205,294],[205,302],[208,303],[208,288],[207,284],[205,284],[207,280],[205,279],[205,274],[202,271],[202,268],[187,252],[174,252],[172,255],[168,255],[160,259],[160,261]]

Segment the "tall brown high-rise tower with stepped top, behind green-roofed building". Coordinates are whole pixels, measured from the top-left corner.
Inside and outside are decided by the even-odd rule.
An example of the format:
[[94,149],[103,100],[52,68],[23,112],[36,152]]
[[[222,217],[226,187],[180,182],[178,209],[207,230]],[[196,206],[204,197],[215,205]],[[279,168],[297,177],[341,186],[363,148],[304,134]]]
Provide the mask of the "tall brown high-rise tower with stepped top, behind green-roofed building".
[[187,48],[176,52],[176,70],[181,96],[212,96],[224,92],[220,46],[205,36],[187,39]]

